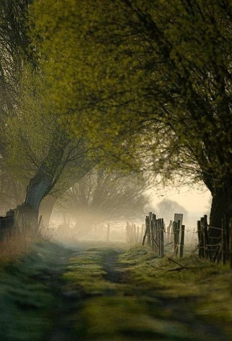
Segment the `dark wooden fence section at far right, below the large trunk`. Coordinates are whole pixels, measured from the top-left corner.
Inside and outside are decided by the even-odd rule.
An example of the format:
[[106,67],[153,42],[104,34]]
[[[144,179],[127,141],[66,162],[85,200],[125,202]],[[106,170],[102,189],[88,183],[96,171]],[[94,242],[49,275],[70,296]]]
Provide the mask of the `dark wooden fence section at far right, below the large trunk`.
[[[212,230],[219,231],[213,234]],[[204,215],[197,221],[197,235],[200,258],[223,264],[230,262],[232,268],[232,219],[230,219],[229,230],[227,230],[225,218],[222,219],[221,228],[216,228],[208,225],[207,215]]]

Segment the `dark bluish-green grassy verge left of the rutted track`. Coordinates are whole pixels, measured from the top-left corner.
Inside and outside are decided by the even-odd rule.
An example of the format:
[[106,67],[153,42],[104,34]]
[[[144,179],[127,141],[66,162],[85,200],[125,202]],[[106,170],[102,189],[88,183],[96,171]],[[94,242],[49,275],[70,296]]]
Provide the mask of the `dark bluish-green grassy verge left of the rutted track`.
[[62,267],[65,250],[50,242],[30,245],[27,254],[0,264],[0,340],[47,340],[56,299],[49,283]]

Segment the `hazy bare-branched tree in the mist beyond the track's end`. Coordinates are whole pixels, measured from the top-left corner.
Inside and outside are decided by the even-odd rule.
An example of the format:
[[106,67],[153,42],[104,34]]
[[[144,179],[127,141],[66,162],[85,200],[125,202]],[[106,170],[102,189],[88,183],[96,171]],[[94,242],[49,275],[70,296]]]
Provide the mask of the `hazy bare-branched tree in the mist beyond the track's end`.
[[81,233],[93,225],[109,221],[141,219],[148,198],[144,191],[149,185],[138,174],[123,174],[95,167],[58,200],[58,207],[70,214]]

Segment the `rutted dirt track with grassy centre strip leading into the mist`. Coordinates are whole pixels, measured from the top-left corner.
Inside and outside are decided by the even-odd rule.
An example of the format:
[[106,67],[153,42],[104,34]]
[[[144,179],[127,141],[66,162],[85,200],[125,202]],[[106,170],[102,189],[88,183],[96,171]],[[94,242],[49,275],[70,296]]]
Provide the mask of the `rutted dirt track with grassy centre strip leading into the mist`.
[[168,298],[155,280],[151,289],[132,279],[120,254],[91,248],[70,255],[53,278],[58,303],[50,341],[229,340],[189,311],[193,297]]

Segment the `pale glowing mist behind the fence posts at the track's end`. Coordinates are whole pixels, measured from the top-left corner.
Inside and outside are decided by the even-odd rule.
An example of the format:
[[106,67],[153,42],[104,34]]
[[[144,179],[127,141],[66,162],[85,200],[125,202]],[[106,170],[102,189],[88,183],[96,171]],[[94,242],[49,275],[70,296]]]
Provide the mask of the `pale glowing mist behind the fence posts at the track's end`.
[[[197,220],[207,214],[209,216],[211,196],[203,186],[193,188],[182,187],[155,187],[145,190],[142,202],[144,207],[140,208],[138,215],[133,219],[131,214],[127,216],[130,203],[125,206],[125,212],[118,204],[118,216],[114,213],[110,215],[97,210],[86,210],[73,207],[55,207],[51,214],[49,229],[55,240],[62,243],[70,243],[82,240],[103,240],[126,242],[126,224],[135,224],[139,231],[139,238],[145,216],[149,211],[154,212],[157,217],[163,218],[167,226],[170,220],[174,219],[174,213],[183,213],[183,224],[186,226],[186,243],[196,241]],[[131,203],[133,205],[133,202]],[[117,211],[115,205],[114,212]],[[133,212],[133,207],[130,212]],[[74,217],[74,218],[73,218]],[[109,227],[110,226],[110,227]],[[108,231],[109,230],[109,231]],[[108,236],[109,234],[109,236]],[[138,242],[141,240],[138,239]]]

